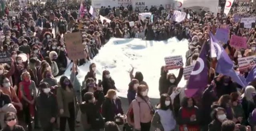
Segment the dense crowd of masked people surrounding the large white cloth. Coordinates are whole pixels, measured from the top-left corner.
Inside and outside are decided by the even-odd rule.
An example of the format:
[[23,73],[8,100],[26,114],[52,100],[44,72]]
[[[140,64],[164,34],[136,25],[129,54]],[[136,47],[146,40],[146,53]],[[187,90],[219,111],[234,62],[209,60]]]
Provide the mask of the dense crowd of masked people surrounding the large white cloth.
[[[26,7],[5,7],[0,19],[2,30],[1,52],[9,52],[11,60],[0,66],[0,129],[2,131],[70,131],[82,126],[85,131],[256,131],[256,85],[242,87],[229,76],[215,72],[216,59],[209,58],[209,81],[204,91],[194,97],[184,95],[185,87],[178,87],[183,76],[161,67],[159,78],[160,99],[152,105],[147,82],[142,72],[128,81],[127,113],[117,96],[111,72],[102,72],[96,78],[96,64],[84,81],[76,77],[79,66],[93,59],[111,37],[167,40],[176,37],[187,39],[186,66],[194,65],[203,44],[208,44],[210,32],[216,33],[221,25],[228,25],[229,34],[247,39],[247,49],[235,49],[227,43],[234,70],[247,77],[250,69],[239,70],[237,59],[253,56],[256,51],[255,28],[241,28],[233,16],[255,17],[252,3],[234,2],[230,13],[214,14],[201,8],[183,8],[187,16],[182,22],[173,20],[174,9],[163,5],[146,7],[152,18],[141,20],[137,8],[102,7],[99,14],[110,23],[92,16],[88,10],[81,15],[80,4],[56,5],[51,2]],[[88,3],[83,6],[89,8]],[[10,9],[17,13],[9,14]],[[131,26],[129,22],[134,22]],[[84,58],[73,62],[69,76],[62,76],[67,69],[68,53],[63,35],[80,32],[83,38]],[[26,58],[24,58],[24,56]],[[57,81],[55,77],[61,76]]]

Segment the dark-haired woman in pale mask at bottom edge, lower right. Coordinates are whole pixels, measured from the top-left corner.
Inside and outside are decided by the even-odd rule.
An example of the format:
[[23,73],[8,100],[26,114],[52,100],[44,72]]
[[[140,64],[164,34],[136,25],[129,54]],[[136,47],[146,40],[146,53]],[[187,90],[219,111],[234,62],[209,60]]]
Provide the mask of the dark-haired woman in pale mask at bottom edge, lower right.
[[209,124],[208,131],[221,131],[221,124],[227,120],[225,109],[221,107],[213,109],[211,117],[213,121]]

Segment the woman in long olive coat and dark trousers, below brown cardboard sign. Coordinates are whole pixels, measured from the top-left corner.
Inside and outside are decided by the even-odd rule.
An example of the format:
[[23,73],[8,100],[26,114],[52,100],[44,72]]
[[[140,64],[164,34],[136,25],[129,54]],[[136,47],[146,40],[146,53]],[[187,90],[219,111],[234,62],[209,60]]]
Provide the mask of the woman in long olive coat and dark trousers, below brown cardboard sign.
[[76,98],[73,85],[66,76],[62,76],[60,79],[60,87],[57,88],[57,103],[60,114],[60,131],[65,131],[66,121],[68,121],[69,130],[75,131]]

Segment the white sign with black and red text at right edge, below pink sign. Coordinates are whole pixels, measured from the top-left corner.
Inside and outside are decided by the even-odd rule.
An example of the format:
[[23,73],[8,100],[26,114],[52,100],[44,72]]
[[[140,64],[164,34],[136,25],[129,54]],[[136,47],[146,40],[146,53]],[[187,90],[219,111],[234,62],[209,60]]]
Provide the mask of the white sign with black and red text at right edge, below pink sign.
[[238,61],[239,70],[244,70],[256,65],[256,56],[253,55],[249,57],[238,58],[237,61]]

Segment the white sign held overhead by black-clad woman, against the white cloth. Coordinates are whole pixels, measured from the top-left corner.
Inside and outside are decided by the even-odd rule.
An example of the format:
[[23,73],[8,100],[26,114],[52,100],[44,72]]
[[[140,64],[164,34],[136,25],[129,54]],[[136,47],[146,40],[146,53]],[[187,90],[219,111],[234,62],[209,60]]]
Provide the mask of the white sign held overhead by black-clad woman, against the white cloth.
[[164,60],[167,70],[179,69],[183,66],[182,55],[165,57]]

